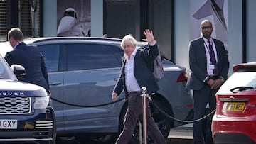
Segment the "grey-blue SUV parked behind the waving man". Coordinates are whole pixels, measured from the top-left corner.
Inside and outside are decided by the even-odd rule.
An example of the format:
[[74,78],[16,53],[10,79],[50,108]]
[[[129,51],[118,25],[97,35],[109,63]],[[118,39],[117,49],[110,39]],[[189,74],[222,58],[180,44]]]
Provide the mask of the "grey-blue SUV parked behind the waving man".
[[[87,135],[92,140],[115,140],[122,130],[127,109],[124,93],[112,103],[111,94],[121,70],[124,51],[114,38],[55,37],[24,40],[38,45],[46,62],[50,92],[55,109],[57,139],[76,141]],[[147,43],[139,43],[140,46]],[[11,50],[1,43],[1,54]],[[9,49],[7,49],[9,48]],[[169,116],[186,120],[193,109],[191,93],[186,89],[186,69],[163,58],[164,79],[153,99]],[[151,104],[152,116],[167,138],[170,128],[181,125]],[[134,131],[137,138],[137,131]]]

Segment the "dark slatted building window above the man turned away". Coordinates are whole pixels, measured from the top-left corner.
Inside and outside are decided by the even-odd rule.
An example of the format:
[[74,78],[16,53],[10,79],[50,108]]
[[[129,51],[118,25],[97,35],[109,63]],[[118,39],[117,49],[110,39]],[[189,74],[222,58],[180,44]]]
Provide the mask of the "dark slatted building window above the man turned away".
[[0,1],[0,40],[7,38],[11,28],[21,28],[24,38],[41,35],[40,0]]

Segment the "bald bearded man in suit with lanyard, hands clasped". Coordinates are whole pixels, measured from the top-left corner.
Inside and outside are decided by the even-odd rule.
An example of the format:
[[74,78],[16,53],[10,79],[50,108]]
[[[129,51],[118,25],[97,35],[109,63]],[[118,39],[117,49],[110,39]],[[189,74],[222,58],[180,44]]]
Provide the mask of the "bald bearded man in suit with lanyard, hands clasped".
[[[212,32],[212,23],[208,20],[202,21],[202,37],[192,40],[189,44],[191,77],[187,87],[193,89],[195,120],[206,115],[207,104],[210,106],[210,111],[216,108],[215,93],[228,77],[228,52],[223,42],[211,37]],[[209,123],[208,126],[206,131],[210,132]],[[203,131],[203,121],[193,123],[194,143],[213,143],[211,132],[204,133]]]

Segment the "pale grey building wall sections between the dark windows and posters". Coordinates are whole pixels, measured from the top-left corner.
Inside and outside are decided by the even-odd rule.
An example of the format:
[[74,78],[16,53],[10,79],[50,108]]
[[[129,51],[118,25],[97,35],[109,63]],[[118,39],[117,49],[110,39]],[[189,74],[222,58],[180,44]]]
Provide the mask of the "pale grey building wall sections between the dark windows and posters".
[[[56,22],[56,1],[43,1],[43,36],[55,36],[57,29]],[[187,68],[188,66],[188,43],[189,43],[189,3],[188,0],[174,0],[174,62]],[[93,0],[92,8],[92,36],[103,34],[103,0]],[[230,60],[229,75],[233,73],[233,65],[242,62],[242,43],[246,43],[246,61],[255,61],[256,49],[256,1],[247,0],[247,31],[246,40],[242,41],[242,1],[228,1],[228,52]],[[199,28],[199,26],[198,26]],[[198,29],[199,31],[199,29]]]

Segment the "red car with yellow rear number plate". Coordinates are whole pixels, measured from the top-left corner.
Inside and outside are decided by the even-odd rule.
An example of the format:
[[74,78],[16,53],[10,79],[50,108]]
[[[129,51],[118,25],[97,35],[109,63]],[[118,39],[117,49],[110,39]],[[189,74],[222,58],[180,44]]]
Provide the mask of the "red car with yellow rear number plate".
[[216,94],[215,144],[256,143],[256,62],[235,65]]

